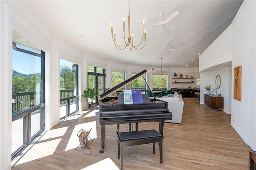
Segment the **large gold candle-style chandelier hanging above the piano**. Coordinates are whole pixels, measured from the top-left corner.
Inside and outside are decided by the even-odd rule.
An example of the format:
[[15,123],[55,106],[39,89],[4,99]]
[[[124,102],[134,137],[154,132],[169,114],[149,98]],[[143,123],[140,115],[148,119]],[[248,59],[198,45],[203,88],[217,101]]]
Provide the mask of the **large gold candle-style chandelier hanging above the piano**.
[[[142,39],[140,41],[140,43],[138,45],[134,45],[133,44],[133,34],[132,34],[132,37],[130,36],[130,0],[128,1],[128,37],[127,39],[125,38],[125,33],[124,33],[124,46],[121,46],[121,45],[117,45],[116,44],[116,31],[114,31],[114,36],[113,36],[113,27],[112,27],[112,23],[110,23],[110,27],[111,27],[111,35],[112,35],[112,40],[114,41],[114,44],[116,46],[117,49],[119,50],[123,50],[125,49],[126,47],[130,47],[130,50],[132,51],[132,49],[142,49],[145,44],[146,44],[146,30],[144,29],[145,27],[145,21],[143,20],[142,21]],[[124,32],[124,18],[123,18],[123,32]],[[144,39],[144,45],[142,45],[142,42],[143,42],[143,39]]]

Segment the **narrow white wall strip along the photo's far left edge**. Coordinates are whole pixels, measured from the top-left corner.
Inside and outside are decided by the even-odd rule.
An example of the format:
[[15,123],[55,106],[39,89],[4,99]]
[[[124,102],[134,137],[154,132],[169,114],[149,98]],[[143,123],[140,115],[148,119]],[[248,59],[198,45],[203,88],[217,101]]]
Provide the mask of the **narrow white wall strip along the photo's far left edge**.
[[[0,1],[0,169],[7,170],[11,166],[11,134],[10,122],[12,120],[12,60],[8,57],[10,44],[8,4]],[[2,25],[2,23],[5,23]],[[10,31],[12,32],[12,31]],[[4,83],[3,83],[4,82]],[[8,106],[8,107],[6,107]],[[8,114],[9,113],[9,114]],[[10,129],[9,129],[10,128]]]

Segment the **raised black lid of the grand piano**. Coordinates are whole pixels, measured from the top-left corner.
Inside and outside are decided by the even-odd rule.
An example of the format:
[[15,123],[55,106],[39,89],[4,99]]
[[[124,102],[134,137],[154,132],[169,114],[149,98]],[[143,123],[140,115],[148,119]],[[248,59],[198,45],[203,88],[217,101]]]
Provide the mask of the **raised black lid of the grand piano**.
[[134,81],[137,80],[138,78],[140,78],[140,77],[142,77],[142,76],[148,74],[148,73],[151,72],[152,70],[153,70],[153,68],[150,69],[150,70],[148,70],[148,71],[147,71],[147,70],[143,70],[142,72],[139,72],[138,74],[132,76],[131,78],[128,78],[128,79],[125,80],[124,82],[122,82],[122,83],[118,84],[117,86],[111,88],[110,90],[108,90],[108,91],[102,93],[102,94],[100,95],[100,99],[99,99],[99,100],[100,100],[100,101],[103,100],[104,98],[108,97],[110,94],[113,94],[114,92],[120,90],[120,89],[123,88],[124,86],[127,86],[128,84],[134,82]]

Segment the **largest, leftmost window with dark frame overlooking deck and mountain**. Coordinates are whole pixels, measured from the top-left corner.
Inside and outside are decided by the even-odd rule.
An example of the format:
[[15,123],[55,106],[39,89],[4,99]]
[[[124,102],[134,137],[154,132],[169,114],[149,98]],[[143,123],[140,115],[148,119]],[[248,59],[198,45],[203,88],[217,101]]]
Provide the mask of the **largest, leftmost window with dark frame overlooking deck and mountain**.
[[44,130],[44,52],[13,31],[12,159]]

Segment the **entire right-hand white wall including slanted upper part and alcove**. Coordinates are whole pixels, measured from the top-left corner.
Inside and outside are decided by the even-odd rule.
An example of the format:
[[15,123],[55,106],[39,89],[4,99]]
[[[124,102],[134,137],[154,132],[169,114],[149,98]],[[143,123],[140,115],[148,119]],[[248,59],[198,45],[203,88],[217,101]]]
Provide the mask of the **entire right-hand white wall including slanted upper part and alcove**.
[[[201,83],[209,84],[211,82],[213,84],[213,74],[220,74],[223,87],[222,95],[224,96],[224,111],[227,109],[227,112],[230,112],[230,106],[226,106],[226,103],[229,104],[231,102],[231,125],[253,150],[256,150],[255,9],[256,1],[244,1],[230,27],[199,57]],[[228,61],[232,61],[231,69],[219,69],[219,64],[228,63]],[[234,67],[239,65],[242,66],[242,101],[233,98],[233,70]],[[214,67],[216,67],[216,71],[212,71]],[[211,71],[207,72],[209,70]],[[226,92],[228,93],[226,94]],[[225,98],[228,98],[228,101]],[[201,100],[201,103],[203,101]]]

